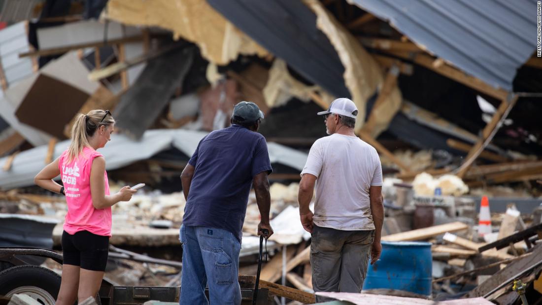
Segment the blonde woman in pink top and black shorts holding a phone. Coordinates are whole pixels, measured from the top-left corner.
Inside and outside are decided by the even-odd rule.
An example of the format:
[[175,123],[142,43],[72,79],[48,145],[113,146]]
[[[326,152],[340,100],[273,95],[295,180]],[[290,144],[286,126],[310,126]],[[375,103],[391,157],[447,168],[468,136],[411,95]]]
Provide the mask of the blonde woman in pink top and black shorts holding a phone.
[[[62,282],[56,304],[72,305],[95,297],[104,277],[111,237],[111,206],[132,198],[130,186],[113,195],[98,150],[111,140],[115,120],[109,111],[79,114],[72,143],[34,178],[43,189],[66,196],[68,213],[62,233]],[[64,186],[53,179],[61,175]]]

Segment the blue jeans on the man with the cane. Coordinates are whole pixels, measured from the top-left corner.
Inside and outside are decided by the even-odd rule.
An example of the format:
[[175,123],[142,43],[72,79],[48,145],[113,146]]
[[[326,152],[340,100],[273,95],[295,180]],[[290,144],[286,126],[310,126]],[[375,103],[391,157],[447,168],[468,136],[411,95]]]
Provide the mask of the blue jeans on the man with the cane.
[[241,243],[228,230],[180,226],[183,269],[179,304],[241,304],[237,280]]

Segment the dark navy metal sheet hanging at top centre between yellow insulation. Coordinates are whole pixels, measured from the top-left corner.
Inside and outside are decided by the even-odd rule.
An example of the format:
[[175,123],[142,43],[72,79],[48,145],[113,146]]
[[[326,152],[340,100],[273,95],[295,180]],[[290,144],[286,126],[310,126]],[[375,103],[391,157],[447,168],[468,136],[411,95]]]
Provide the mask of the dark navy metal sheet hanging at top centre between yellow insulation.
[[339,55],[326,35],[316,27],[314,12],[301,1],[207,2],[307,80],[335,96],[350,97]]

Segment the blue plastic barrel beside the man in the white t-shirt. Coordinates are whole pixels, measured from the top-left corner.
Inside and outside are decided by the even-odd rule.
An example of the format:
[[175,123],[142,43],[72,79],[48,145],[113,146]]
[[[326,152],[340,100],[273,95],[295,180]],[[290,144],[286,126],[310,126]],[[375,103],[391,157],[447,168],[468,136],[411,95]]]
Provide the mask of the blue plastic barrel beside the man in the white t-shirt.
[[431,294],[431,243],[382,242],[380,261],[369,265],[363,289],[396,289]]

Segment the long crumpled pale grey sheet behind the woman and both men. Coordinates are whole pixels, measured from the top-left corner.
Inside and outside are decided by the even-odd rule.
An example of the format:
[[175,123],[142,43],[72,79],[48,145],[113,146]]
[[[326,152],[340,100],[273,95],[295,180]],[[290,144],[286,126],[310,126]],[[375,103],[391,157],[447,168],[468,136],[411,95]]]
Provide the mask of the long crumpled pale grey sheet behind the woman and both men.
[[[106,159],[106,170],[115,170],[135,161],[151,158],[172,146],[190,157],[196,150],[199,140],[206,134],[183,129],[156,129],[146,131],[140,141],[131,140],[122,134],[114,134],[111,142],[100,148],[99,152]],[[56,144],[54,159],[60,157],[69,143],[70,141],[66,140]],[[45,166],[47,148],[47,145],[43,145],[17,154],[10,171],[0,170],[0,189],[33,185],[34,176]],[[280,163],[299,171],[305,166],[307,160],[305,153],[276,143],[268,143],[268,150],[271,163]],[[0,165],[3,165],[7,158],[1,158]]]

